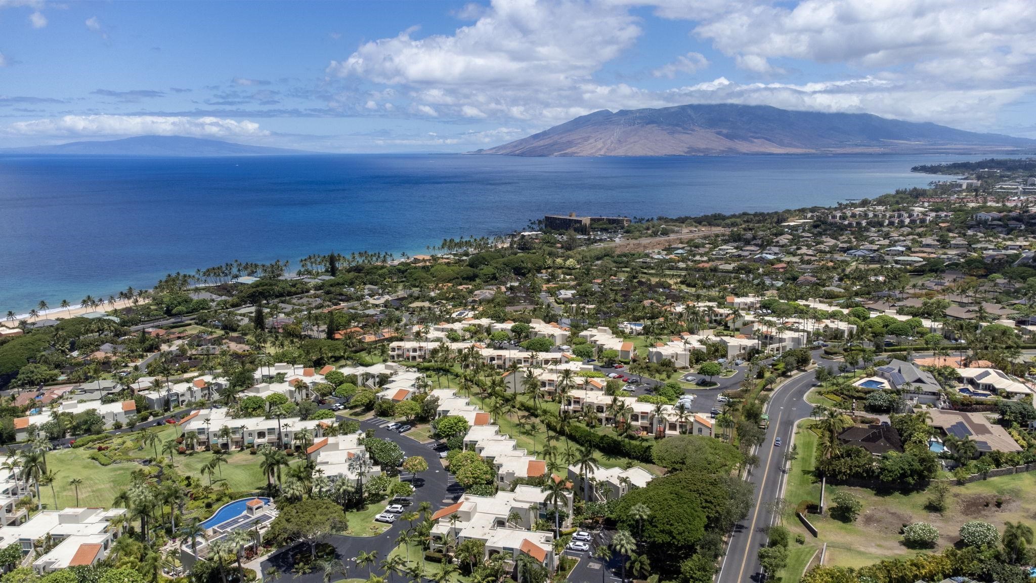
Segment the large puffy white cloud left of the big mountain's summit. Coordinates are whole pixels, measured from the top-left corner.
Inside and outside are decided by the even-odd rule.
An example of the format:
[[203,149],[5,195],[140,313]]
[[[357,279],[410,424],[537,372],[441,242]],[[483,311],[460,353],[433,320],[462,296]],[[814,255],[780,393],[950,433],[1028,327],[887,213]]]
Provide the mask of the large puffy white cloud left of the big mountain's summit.
[[327,72],[384,84],[556,87],[586,79],[640,34],[626,9],[579,1],[495,0],[453,35],[415,29],[362,45]]

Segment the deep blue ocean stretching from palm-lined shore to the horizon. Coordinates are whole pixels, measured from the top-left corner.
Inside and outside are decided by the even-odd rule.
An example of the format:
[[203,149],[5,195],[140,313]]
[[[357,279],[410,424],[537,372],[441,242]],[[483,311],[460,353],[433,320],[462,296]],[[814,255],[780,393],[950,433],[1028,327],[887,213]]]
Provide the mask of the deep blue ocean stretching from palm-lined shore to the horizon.
[[176,271],[311,253],[420,253],[545,214],[776,211],[923,186],[961,156],[0,158],[0,310]]

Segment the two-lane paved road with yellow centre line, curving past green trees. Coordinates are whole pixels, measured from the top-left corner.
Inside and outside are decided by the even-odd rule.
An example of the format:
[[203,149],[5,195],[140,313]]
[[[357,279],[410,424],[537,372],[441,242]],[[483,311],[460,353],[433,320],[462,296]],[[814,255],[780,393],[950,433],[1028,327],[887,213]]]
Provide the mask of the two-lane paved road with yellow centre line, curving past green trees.
[[[813,360],[822,366],[837,364],[824,359],[819,351],[813,353]],[[813,406],[806,402],[805,396],[814,382],[814,371],[804,372],[778,387],[770,398],[767,409],[770,415],[767,440],[756,451],[759,465],[752,469],[747,478],[755,485],[755,501],[748,517],[733,527],[716,580],[718,583],[762,580],[757,556],[759,548],[767,542],[764,530],[773,521],[769,503],[783,496],[784,451],[792,440],[795,423],[809,417],[812,412]],[[774,440],[778,437],[783,442],[781,447],[774,446]],[[788,502],[795,504],[798,500]]]

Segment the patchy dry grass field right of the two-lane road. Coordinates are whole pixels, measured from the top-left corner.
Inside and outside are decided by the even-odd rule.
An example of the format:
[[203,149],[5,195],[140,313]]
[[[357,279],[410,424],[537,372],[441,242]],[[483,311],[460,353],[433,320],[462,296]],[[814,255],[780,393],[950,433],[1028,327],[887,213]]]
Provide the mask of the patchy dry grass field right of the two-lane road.
[[[904,524],[924,521],[933,525],[941,537],[934,551],[951,547],[958,540],[957,531],[965,522],[981,520],[999,528],[1005,522],[1031,522],[1036,516],[1036,475],[1032,473],[1001,476],[972,482],[965,485],[950,485],[947,499],[949,506],[944,512],[931,512],[925,505],[931,494],[928,492],[875,493],[872,490],[851,487],[827,488],[826,497],[829,501],[838,492],[848,492],[863,503],[863,511],[853,523],[834,520],[829,513],[824,516],[809,515],[813,526],[819,531],[819,536],[813,538],[795,517],[795,506],[801,500],[818,502],[821,496],[819,483],[812,475],[813,460],[817,436],[809,431],[810,422],[799,425],[795,443],[798,446],[799,457],[793,463],[787,476],[784,497],[788,509],[785,512],[784,525],[793,534],[803,534],[806,537],[804,549],[818,550],[824,543],[828,544],[825,564],[842,566],[860,566],[870,564],[893,556],[912,555],[917,551],[908,549],[900,543],[900,528]],[[793,544],[794,554],[797,545]],[[807,551],[803,550],[805,554]],[[799,573],[808,558],[794,561],[789,559],[784,571],[784,581],[798,580]]]

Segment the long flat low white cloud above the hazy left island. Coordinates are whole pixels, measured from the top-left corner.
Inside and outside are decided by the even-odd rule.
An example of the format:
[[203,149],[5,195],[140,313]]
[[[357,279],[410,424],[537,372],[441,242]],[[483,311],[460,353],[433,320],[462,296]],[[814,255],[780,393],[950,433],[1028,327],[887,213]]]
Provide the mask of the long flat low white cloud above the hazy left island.
[[262,137],[269,132],[253,121],[220,117],[159,115],[65,115],[56,119],[18,121],[8,131],[41,136],[195,136]]

